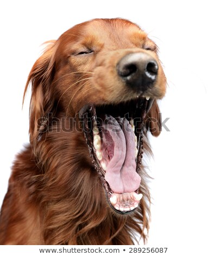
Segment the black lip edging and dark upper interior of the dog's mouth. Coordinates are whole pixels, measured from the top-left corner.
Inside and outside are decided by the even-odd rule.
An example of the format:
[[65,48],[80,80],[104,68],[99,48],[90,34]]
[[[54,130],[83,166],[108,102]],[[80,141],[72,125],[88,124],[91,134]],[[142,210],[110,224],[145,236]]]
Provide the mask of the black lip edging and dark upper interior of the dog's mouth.
[[[100,105],[100,106],[94,106],[94,105],[85,105],[83,108],[80,109],[79,111],[79,118],[82,121],[83,124],[83,131],[84,131],[84,136],[86,139],[86,144],[89,148],[89,153],[92,159],[92,163],[94,168],[97,170],[97,173],[99,174],[99,178],[102,182],[102,185],[105,190],[106,197],[108,199],[108,203],[111,206],[111,208],[117,212],[118,214],[121,215],[128,215],[131,212],[133,212],[135,209],[127,212],[122,212],[119,210],[116,210],[114,206],[111,205],[110,203],[110,196],[112,193],[114,193],[108,182],[105,181],[105,172],[102,169],[102,167],[99,164],[99,160],[97,159],[96,154],[94,154],[94,148],[93,148],[93,135],[92,135],[92,121],[96,121],[97,119],[97,114],[100,115],[101,113],[105,114],[112,114],[112,116],[118,116],[118,115],[125,115],[127,113],[127,109],[130,109],[129,117],[131,118],[139,118],[140,121],[137,122],[136,128],[135,129],[135,135],[137,136],[137,148],[138,148],[138,154],[136,158],[136,172],[140,173],[141,172],[141,164],[142,164],[142,153],[143,153],[143,120],[146,117],[149,109],[151,108],[153,104],[154,99],[149,99],[146,100],[145,98],[137,99],[137,100],[132,100],[129,102],[124,102],[124,103],[119,103],[118,105]],[[128,108],[127,108],[128,107]],[[138,126],[138,127],[137,127]],[[139,190],[139,189],[138,189]],[[138,192],[135,191],[135,192]]]

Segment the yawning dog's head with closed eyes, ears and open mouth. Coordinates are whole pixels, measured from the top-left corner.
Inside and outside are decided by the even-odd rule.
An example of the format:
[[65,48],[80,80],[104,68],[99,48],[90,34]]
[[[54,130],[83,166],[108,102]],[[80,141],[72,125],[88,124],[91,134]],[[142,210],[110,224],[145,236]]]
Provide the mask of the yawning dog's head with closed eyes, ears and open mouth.
[[142,197],[142,137],[160,134],[156,100],[166,91],[154,42],[127,20],[84,22],[49,42],[26,90],[30,82],[31,143],[46,131],[49,113],[75,117],[112,209],[133,211]]

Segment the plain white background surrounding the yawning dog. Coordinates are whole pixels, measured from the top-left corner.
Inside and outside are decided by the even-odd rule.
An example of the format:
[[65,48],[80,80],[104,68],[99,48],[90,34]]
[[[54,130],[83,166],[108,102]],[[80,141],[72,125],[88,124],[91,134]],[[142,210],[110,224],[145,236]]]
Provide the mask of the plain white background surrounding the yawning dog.
[[[0,205],[15,154],[28,142],[27,76],[40,45],[93,18],[123,17],[160,48],[168,89],[161,101],[170,118],[152,139],[153,205],[149,246],[166,255],[207,255],[208,36],[206,1],[1,1]],[[152,167],[151,167],[152,166]]]

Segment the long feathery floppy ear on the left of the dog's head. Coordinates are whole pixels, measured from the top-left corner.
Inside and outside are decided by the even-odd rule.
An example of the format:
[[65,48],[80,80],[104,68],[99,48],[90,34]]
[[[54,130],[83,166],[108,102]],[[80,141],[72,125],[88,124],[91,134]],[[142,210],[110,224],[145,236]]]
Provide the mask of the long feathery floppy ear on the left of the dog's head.
[[[24,89],[24,97],[31,84],[31,99],[30,99],[30,142],[34,143],[39,139],[41,132],[47,129],[48,114],[53,113],[54,97],[51,92],[51,83],[54,73],[54,54],[55,41],[46,42],[48,45],[42,56],[36,60],[33,68],[30,71],[26,88]],[[53,115],[53,114],[51,114]]]

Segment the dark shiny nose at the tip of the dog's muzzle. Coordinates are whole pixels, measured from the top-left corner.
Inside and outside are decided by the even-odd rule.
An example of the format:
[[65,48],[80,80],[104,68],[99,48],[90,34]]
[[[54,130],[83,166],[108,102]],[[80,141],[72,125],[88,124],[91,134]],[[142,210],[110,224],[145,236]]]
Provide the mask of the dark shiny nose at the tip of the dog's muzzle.
[[154,86],[158,65],[148,53],[129,53],[119,60],[117,72],[127,86],[139,92],[145,92]]

